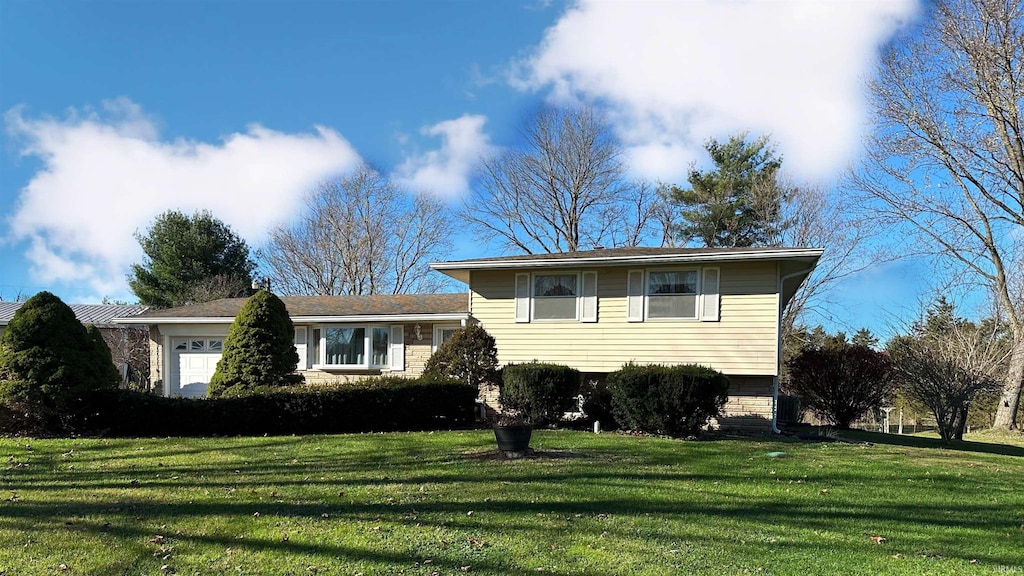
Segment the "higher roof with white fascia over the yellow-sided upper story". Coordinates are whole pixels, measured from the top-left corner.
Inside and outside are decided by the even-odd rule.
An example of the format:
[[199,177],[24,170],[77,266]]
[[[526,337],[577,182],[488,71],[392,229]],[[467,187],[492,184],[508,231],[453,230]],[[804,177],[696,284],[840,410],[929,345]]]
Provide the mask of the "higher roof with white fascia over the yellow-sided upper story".
[[430,268],[469,282],[469,271],[488,269],[649,265],[740,260],[799,260],[814,263],[820,248],[607,248],[431,262]]

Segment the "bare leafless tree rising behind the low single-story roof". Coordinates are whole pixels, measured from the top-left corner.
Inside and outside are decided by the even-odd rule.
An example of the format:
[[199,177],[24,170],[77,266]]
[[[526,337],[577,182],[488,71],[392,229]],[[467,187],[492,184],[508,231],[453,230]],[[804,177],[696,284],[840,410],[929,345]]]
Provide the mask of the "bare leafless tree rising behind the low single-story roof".
[[275,291],[355,295],[432,292],[431,260],[451,251],[444,205],[368,166],[319,184],[298,218],[270,231],[259,257]]

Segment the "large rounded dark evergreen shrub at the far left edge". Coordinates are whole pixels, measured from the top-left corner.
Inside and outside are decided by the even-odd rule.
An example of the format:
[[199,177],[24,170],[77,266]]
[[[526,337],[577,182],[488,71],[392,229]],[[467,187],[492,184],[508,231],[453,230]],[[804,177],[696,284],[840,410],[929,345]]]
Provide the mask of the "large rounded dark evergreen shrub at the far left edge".
[[49,292],[29,298],[0,337],[0,401],[60,415],[119,380],[98,330],[90,336],[71,307]]

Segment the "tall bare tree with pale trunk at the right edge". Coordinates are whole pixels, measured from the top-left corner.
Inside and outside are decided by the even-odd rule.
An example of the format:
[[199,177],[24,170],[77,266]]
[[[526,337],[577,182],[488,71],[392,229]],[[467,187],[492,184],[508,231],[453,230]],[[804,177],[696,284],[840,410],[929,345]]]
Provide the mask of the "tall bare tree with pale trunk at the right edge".
[[[871,83],[876,131],[852,184],[905,239],[959,282],[995,294],[1013,332],[995,427],[1013,428],[1024,380],[1024,4],[939,0],[883,54]],[[899,228],[896,228],[899,227]]]

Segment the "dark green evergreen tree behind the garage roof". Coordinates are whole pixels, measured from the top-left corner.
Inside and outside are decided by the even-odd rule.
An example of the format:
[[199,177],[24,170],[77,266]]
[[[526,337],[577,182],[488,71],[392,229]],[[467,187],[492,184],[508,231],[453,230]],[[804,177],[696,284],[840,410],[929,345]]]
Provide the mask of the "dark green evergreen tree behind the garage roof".
[[169,210],[135,239],[145,259],[132,265],[128,285],[147,306],[244,296],[252,284],[249,246],[210,212]]

